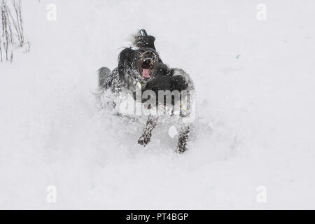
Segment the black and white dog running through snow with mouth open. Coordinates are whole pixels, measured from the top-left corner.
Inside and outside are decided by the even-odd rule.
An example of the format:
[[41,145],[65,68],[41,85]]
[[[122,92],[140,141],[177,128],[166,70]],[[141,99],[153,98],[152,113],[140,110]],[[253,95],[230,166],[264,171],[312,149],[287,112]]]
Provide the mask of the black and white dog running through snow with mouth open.
[[[193,101],[191,92],[194,91],[193,81],[188,73],[182,69],[169,68],[164,64],[155,50],[154,42],[155,37],[148,35],[146,30],[141,29],[134,38],[134,46],[125,48],[120,52],[118,68],[113,69],[113,71],[106,67],[99,69],[99,87],[102,90],[110,90],[114,94],[127,91],[132,92],[134,100],[139,101],[136,95],[140,86],[141,93],[149,92],[146,95],[150,95],[151,105],[149,104],[147,108],[152,111],[155,106],[169,106],[166,102],[167,96],[165,92],[170,93],[170,99],[172,100],[169,103],[172,107],[172,113],[169,116],[174,116],[174,114],[179,114],[181,118],[191,116],[191,111],[193,110],[191,104]],[[160,94],[161,91],[163,94]],[[174,92],[179,93],[179,97],[175,97]],[[155,96],[152,97],[152,94],[155,94]],[[186,104],[183,104],[184,98],[186,99]],[[142,104],[145,103],[142,98],[140,102]],[[179,105],[179,113],[176,113],[174,110],[175,104]],[[113,102],[113,106],[116,106],[115,102]],[[181,125],[176,149],[177,153],[186,151],[190,137],[191,122],[192,120],[190,119]],[[148,115],[146,127],[138,140],[138,144],[146,146],[151,141],[152,131],[157,123],[158,116],[155,113]]]

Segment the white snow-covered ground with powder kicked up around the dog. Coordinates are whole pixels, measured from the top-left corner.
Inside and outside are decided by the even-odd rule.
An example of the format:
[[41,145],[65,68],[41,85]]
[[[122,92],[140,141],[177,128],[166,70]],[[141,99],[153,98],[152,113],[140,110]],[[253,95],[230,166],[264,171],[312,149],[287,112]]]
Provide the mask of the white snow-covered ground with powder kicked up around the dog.
[[[31,51],[0,63],[1,209],[315,209],[314,1],[22,7]],[[96,70],[117,66],[141,28],[196,85],[195,138],[183,155],[169,124],[144,149],[143,124],[95,101]]]

